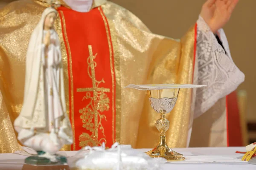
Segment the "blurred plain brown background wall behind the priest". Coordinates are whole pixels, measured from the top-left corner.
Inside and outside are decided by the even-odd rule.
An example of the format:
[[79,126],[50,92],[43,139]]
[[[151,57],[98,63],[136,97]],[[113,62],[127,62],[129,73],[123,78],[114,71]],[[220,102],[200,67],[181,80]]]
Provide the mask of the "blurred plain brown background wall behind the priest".
[[[0,0],[0,8],[14,0]],[[180,38],[195,24],[205,0],[111,0],[139,17],[155,34]],[[245,142],[256,142],[256,0],[240,0],[224,27],[236,65],[245,74],[237,90]],[[1,23],[0,23],[1,24]],[[239,126],[239,125],[238,125]]]

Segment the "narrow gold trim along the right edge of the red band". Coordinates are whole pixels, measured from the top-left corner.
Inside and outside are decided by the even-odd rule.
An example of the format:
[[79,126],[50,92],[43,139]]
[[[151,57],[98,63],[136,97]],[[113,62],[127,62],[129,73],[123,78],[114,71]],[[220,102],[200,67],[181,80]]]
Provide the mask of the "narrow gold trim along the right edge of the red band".
[[108,48],[109,48],[109,59],[110,59],[110,67],[111,67],[111,78],[112,78],[112,140],[113,143],[115,143],[115,79],[114,79],[114,70],[113,70],[113,61],[112,61],[112,48],[111,48],[111,39],[109,36],[109,31],[108,31],[108,23],[105,18],[105,15],[103,14],[101,7],[98,7],[98,10],[100,11],[100,14],[102,16],[102,19],[104,21],[106,33],[107,33],[107,38],[108,38]]

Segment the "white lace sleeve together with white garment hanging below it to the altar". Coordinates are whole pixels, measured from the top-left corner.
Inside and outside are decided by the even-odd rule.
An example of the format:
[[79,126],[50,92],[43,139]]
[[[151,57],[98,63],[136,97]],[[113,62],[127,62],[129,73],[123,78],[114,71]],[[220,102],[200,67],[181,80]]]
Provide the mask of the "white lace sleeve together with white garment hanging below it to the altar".
[[192,103],[187,142],[187,146],[190,147],[227,146],[225,96],[235,91],[244,81],[244,74],[231,58],[223,29],[218,30],[218,37],[225,50],[218,43],[207,23],[199,17],[193,83],[207,86],[193,89],[195,104]]

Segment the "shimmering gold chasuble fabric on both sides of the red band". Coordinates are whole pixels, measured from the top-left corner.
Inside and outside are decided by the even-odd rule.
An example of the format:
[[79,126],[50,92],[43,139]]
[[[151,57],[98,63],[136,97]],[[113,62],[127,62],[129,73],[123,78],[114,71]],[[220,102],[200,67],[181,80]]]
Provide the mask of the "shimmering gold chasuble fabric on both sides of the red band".
[[[152,34],[131,12],[106,2],[102,10],[108,20],[116,76],[116,140],[132,147],[151,148],[158,141],[154,123],[159,115],[149,106],[145,91],[124,89],[133,84],[192,83],[194,28],[181,39]],[[23,104],[25,56],[33,28],[45,9],[33,0],[13,2],[0,11],[0,153],[18,150],[12,124]],[[61,41],[67,108],[67,50],[61,21],[55,23]],[[167,119],[170,147],[186,147],[190,120],[191,90],[180,90],[179,99]],[[69,113],[68,113],[69,114]],[[65,146],[63,150],[70,150]]]

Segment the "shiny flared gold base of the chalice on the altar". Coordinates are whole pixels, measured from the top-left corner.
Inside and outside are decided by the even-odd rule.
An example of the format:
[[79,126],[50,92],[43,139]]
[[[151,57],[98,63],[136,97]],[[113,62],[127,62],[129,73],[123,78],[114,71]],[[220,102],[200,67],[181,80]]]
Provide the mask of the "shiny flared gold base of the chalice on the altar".
[[164,158],[167,161],[184,161],[185,157],[182,154],[175,152],[168,146],[166,146],[166,152],[160,153],[158,146],[154,149],[146,152],[146,154],[152,158]]

